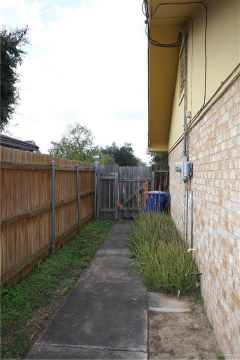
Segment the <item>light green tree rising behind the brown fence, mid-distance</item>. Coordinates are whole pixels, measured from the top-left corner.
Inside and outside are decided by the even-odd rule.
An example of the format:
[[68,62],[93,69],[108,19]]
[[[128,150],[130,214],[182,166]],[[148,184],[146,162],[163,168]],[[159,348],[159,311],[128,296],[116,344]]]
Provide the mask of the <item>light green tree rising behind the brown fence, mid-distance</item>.
[[48,149],[50,155],[78,161],[93,161],[92,155],[98,151],[93,145],[91,130],[78,122],[67,125],[66,133],[59,141],[51,141],[51,147]]

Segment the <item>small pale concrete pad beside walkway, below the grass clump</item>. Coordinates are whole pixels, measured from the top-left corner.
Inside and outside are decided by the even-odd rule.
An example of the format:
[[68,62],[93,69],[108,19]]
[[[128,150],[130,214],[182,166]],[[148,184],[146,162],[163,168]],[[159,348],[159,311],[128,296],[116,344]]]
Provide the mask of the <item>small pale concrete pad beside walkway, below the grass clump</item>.
[[190,305],[186,301],[176,299],[170,295],[148,292],[148,309],[157,312],[187,312]]

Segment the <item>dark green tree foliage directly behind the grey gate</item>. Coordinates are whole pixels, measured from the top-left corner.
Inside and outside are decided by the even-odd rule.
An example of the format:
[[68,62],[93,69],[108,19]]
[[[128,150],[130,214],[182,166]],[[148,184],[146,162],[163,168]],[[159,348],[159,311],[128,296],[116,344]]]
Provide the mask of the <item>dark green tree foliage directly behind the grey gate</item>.
[[133,154],[131,143],[125,142],[118,147],[115,142],[110,146],[101,149],[102,153],[107,153],[115,159],[119,166],[137,166],[139,159]]

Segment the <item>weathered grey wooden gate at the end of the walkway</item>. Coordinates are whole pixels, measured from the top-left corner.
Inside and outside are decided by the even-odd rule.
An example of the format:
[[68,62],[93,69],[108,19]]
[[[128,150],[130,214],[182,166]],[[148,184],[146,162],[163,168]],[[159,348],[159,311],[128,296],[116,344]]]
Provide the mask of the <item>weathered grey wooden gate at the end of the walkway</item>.
[[120,219],[134,217],[139,200],[151,189],[151,167],[96,166],[96,218]]

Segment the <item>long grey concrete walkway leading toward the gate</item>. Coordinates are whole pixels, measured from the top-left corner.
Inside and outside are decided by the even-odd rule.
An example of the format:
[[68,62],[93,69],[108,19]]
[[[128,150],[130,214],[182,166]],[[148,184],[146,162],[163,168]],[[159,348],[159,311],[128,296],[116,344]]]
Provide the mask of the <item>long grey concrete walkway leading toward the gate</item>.
[[28,359],[147,359],[147,292],[119,220],[32,347]]

